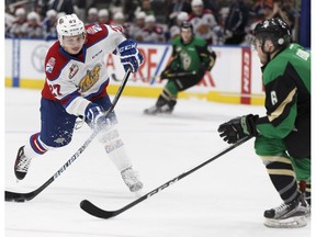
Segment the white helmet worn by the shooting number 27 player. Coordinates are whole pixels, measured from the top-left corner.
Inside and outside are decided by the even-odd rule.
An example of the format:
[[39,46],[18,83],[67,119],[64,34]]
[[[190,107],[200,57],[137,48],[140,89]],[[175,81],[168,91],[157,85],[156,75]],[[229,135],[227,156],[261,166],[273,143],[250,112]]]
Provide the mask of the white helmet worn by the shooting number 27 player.
[[[66,14],[57,20],[57,33],[59,42],[63,36],[75,36],[86,33],[84,24],[76,14]],[[61,42],[60,42],[61,43]]]

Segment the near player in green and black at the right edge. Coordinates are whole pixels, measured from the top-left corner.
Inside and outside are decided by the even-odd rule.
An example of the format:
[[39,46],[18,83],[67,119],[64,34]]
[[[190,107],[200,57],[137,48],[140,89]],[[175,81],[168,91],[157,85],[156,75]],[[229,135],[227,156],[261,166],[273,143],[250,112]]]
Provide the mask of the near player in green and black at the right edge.
[[[264,212],[264,225],[302,227],[311,207],[311,53],[291,43],[289,26],[278,18],[258,23],[253,35],[267,116],[239,116],[219,125],[218,132],[229,144],[256,137],[256,154],[283,200]],[[305,183],[301,189],[300,181]]]

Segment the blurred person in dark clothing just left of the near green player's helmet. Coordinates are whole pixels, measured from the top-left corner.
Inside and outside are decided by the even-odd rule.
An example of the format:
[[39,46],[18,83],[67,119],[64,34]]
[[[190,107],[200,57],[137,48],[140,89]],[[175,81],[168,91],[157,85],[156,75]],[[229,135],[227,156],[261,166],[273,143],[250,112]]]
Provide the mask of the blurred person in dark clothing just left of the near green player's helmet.
[[249,19],[249,10],[244,0],[236,0],[229,9],[225,21],[225,44],[239,45],[246,36],[246,26]]

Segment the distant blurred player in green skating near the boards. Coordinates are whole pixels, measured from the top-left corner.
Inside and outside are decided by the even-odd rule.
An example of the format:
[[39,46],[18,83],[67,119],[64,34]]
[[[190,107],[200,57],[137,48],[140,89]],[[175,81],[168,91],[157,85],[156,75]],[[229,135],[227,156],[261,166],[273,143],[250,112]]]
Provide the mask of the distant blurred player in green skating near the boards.
[[172,113],[178,93],[193,87],[210,71],[216,54],[207,43],[193,34],[190,22],[180,26],[180,36],[172,41],[172,58],[161,72],[161,79],[168,79],[156,104],[144,111],[145,114]]

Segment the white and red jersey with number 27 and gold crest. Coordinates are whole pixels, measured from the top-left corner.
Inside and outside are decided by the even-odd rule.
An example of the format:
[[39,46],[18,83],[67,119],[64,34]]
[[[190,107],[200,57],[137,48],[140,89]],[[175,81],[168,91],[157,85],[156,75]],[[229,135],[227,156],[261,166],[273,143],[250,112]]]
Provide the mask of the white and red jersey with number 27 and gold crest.
[[106,94],[109,74],[105,55],[125,41],[121,26],[86,25],[87,41],[78,56],[64,50],[57,41],[45,58],[42,97],[60,101],[69,114],[84,115],[90,101]]

